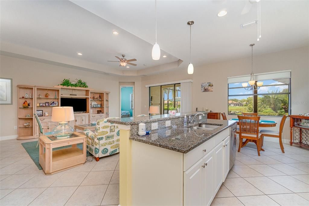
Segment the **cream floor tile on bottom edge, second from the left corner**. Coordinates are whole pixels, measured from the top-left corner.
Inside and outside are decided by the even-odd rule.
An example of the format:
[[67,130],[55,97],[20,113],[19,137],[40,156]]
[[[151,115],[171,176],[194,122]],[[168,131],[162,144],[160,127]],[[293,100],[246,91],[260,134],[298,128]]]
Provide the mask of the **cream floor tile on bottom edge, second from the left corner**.
[[29,205],[36,206],[60,206],[66,204],[71,195],[77,189],[72,187],[49,187]]

